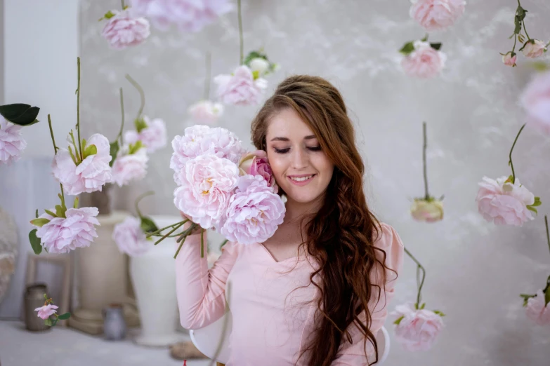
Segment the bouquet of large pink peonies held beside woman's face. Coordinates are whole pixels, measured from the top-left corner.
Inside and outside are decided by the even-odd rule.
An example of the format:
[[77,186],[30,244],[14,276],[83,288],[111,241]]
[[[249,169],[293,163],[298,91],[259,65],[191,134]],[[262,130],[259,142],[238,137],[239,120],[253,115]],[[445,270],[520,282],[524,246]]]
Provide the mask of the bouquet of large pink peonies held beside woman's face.
[[[285,208],[265,151],[247,154],[229,130],[201,125],[174,137],[172,147],[170,168],[178,185],[173,203],[189,219],[148,236],[162,236],[159,243],[188,221],[192,225],[176,234],[179,248],[199,226],[242,244],[261,243],[273,236],[282,224]],[[162,235],[167,229],[171,230]],[[203,240],[201,243],[204,257]]]

